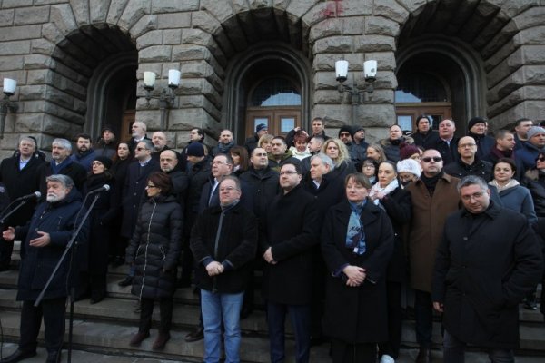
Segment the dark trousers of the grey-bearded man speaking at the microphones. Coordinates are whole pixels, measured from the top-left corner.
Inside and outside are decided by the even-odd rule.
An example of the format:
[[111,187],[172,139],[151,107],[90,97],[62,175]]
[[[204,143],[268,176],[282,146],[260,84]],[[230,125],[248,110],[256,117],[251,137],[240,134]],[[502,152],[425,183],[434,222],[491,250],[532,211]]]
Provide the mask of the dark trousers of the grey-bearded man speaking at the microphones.
[[34,303],[35,300],[23,301],[19,349],[25,352],[36,351],[38,333],[44,318],[45,348],[48,354],[56,354],[63,348],[66,298],[42,300],[37,308]]

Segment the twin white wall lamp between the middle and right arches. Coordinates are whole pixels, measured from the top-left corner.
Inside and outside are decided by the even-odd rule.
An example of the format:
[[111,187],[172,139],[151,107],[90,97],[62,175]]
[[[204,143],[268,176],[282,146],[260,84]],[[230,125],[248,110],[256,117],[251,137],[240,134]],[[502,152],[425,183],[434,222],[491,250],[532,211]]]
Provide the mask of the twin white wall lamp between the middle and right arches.
[[351,100],[352,100],[352,124],[356,121],[356,113],[357,113],[357,107],[358,104],[363,103],[363,93],[372,93],[373,87],[372,83],[376,80],[377,75],[377,61],[365,61],[363,63],[363,76],[365,79],[365,88],[360,89],[358,86],[354,83],[354,79],[352,77],[352,86],[344,84],[344,82],[348,79],[348,61],[341,60],[335,62],[335,76],[337,79],[337,82],[339,82],[339,86],[337,90],[340,93],[350,93]]

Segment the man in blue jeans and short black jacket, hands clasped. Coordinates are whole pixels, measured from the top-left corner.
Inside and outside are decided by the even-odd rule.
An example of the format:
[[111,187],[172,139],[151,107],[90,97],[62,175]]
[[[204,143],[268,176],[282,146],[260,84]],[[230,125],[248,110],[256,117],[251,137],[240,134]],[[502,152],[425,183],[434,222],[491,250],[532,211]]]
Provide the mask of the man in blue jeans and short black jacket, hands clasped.
[[[217,156],[216,156],[217,158]],[[240,203],[241,185],[225,176],[219,186],[220,205],[199,216],[191,234],[198,268],[204,323],[204,360],[219,361],[224,333],[226,361],[240,361],[240,311],[257,249],[257,221]]]

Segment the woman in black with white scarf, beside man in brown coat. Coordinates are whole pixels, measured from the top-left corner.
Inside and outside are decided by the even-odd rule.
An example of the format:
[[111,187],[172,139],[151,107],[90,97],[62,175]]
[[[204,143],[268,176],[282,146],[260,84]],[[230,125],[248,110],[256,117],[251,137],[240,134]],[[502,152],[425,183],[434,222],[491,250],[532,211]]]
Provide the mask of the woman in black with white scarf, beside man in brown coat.
[[403,225],[411,221],[411,193],[401,188],[398,173],[393,162],[381,162],[379,181],[372,186],[370,197],[375,205],[381,206],[390,217],[394,232],[394,247],[388,263],[386,290],[388,297],[387,343],[379,344],[381,361],[397,359],[401,346],[401,285],[405,281],[405,253]]

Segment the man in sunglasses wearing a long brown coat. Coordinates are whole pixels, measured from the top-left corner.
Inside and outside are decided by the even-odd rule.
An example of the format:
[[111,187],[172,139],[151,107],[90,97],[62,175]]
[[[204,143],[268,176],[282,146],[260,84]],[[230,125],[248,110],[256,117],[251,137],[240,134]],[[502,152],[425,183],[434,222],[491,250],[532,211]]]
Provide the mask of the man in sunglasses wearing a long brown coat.
[[421,166],[421,178],[408,188],[412,199],[409,261],[411,287],[414,289],[416,339],[420,345],[417,363],[431,359],[433,262],[445,220],[451,212],[458,210],[460,201],[456,191],[460,180],[442,171],[441,152],[426,150],[421,157]]

